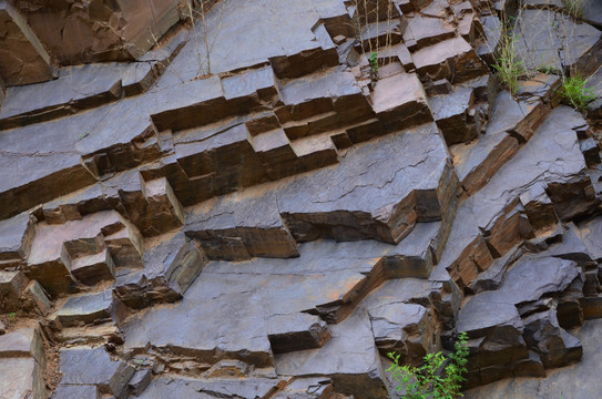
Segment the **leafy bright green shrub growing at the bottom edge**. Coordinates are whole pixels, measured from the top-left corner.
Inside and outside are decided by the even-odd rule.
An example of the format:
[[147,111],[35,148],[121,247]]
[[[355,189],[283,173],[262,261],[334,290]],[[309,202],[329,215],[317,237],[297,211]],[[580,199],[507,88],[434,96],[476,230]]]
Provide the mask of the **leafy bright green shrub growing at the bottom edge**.
[[396,390],[404,391],[405,399],[456,399],[462,397],[460,388],[466,380],[468,362],[468,335],[461,332],[455,344],[455,351],[446,358],[440,351],[425,356],[421,367],[399,365],[399,355],[389,352],[392,360],[387,369],[397,382]]

